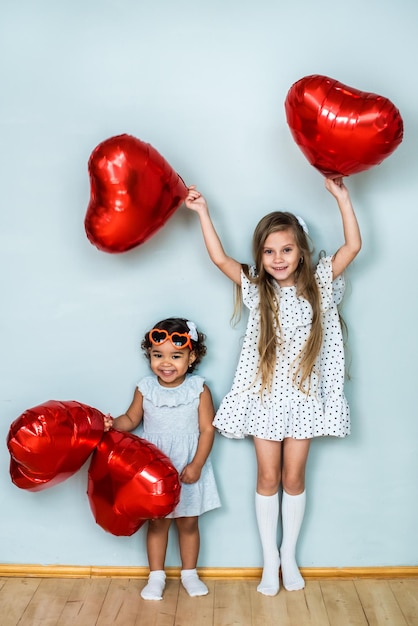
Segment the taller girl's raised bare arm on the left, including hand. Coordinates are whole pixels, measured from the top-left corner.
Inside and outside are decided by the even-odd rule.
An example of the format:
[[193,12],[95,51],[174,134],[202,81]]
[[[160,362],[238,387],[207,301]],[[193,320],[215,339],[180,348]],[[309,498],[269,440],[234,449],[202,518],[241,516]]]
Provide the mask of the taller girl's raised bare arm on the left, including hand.
[[205,246],[213,263],[221,270],[221,272],[228,276],[228,278],[233,280],[234,283],[240,285],[241,263],[238,263],[238,261],[225,253],[221,240],[219,239],[218,233],[216,232],[209,215],[206,200],[194,185],[189,187],[189,193],[184,201],[184,204],[188,209],[195,211],[199,216]]

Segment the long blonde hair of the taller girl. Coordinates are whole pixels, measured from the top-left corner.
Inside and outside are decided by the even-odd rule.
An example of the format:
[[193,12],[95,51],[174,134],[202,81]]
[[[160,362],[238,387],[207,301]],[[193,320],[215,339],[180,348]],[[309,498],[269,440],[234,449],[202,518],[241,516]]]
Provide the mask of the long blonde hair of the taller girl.
[[262,388],[271,389],[277,359],[277,348],[280,348],[281,333],[278,294],[274,288],[275,280],[264,269],[263,250],[265,241],[271,233],[286,230],[293,233],[301,256],[296,270],[297,295],[305,298],[312,307],[310,334],[295,363],[293,376],[293,383],[300,390],[309,393],[310,377],[322,345],[320,294],[312,269],[312,249],[297,217],[285,211],[275,211],[263,217],[257,224],[253,235],[255,276],[250,276],[248,266],[243,265],[242,267],[245,275],[258,286],[259,290],[260,335],[258,339],[258,374],[261,377]]

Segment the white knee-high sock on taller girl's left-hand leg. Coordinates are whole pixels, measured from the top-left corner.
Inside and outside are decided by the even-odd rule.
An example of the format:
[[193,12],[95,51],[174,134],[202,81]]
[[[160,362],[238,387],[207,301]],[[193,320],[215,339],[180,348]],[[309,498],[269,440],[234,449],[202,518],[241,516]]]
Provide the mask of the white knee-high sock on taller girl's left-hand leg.
[[275,596],[279,591],[279,550],[277,548],[277,525],[279,520],[279,498],[255,494],[255,512],[258,532],[263,549],[263,575],[257,591],[265,596]]

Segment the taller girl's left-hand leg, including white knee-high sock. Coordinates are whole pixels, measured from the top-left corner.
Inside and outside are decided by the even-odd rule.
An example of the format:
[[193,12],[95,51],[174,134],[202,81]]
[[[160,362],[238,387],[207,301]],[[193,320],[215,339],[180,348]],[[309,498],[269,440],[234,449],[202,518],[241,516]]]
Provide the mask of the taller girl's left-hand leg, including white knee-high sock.
[[280,559],[277,548],[277,526],[282,443],[254,437],[254,446],[257,456],[255,512],[264,561],[263,575],[257,591],[266,596],[274,596],[279,591]]

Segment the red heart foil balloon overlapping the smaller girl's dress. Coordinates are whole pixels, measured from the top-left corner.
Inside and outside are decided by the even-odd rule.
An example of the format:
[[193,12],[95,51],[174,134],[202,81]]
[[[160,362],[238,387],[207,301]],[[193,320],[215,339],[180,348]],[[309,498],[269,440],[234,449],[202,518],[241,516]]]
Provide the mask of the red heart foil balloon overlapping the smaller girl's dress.
[[99,526],[129,536],[146,520],[171,513],[180,498],[180,481],[156,446],[111,429],[92,455],[87,494]]

